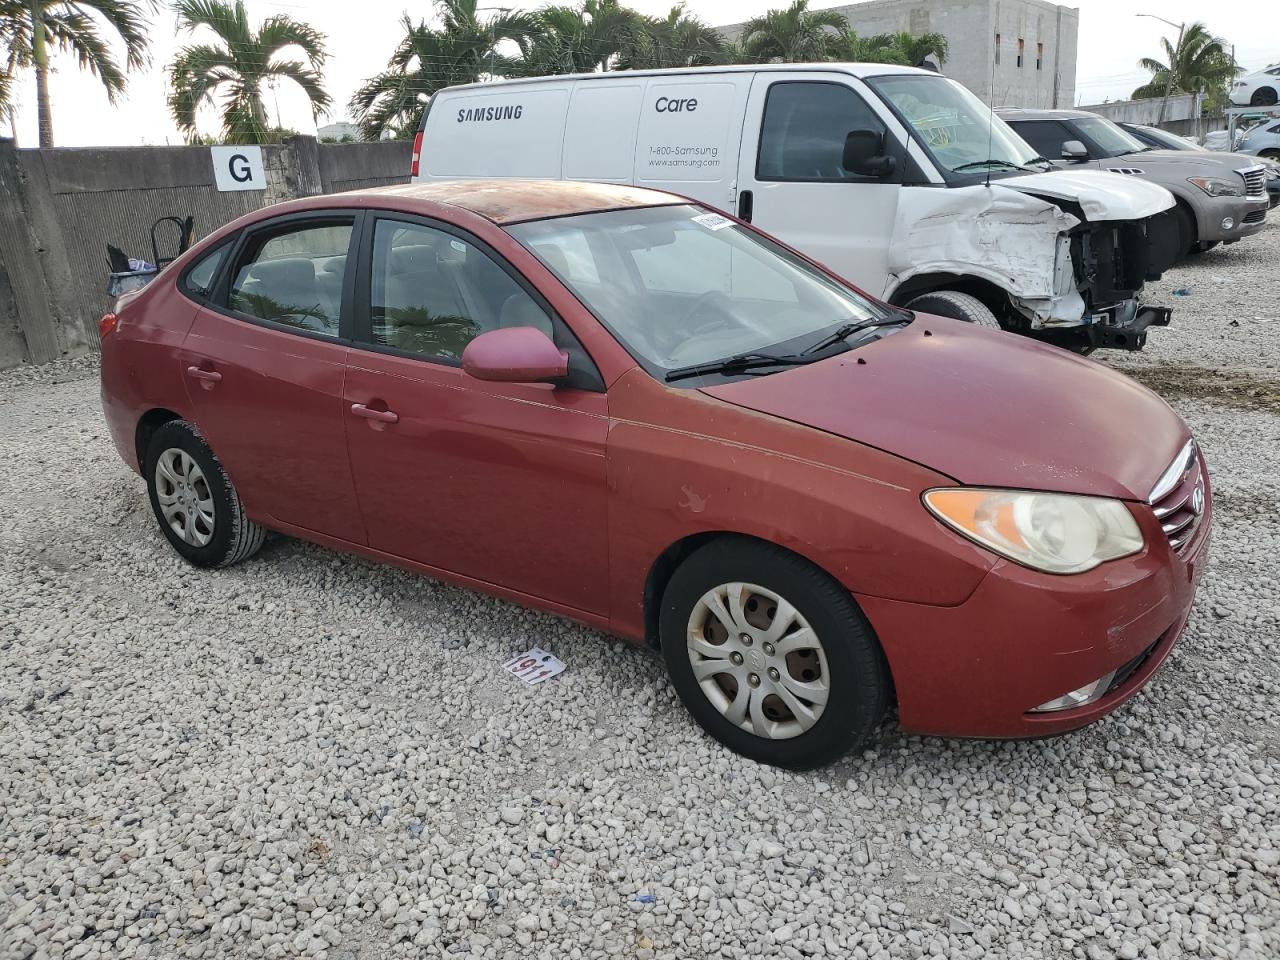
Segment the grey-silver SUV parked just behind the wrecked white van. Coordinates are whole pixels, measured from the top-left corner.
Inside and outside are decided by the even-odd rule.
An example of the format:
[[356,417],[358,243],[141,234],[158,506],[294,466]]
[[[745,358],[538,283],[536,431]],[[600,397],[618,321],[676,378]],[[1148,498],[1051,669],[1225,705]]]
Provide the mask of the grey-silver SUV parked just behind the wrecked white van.
[[1198,253],[1262,229],[1266,168],[1230,155],[1152,150],[1105,116],[1084,110],[998,110],[1019,137],[1061,168],[1140,177],[1178,200],[1178,246]]

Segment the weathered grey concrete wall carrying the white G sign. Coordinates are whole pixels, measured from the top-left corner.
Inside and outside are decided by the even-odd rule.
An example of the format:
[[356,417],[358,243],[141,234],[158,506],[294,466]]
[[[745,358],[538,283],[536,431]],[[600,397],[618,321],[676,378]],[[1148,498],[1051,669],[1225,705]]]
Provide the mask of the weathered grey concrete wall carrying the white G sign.
[[[268,204],[404,183],[410,150],[294,137],[262,147],[265,191],[219,192],[207,147],[15,150],[0,140],[0,369],[96,348],[110,306],[108,243],[151,260],[161,216],[193,216],[198,239]],[[161,256],[175,237],[172,227],[160,234]]]

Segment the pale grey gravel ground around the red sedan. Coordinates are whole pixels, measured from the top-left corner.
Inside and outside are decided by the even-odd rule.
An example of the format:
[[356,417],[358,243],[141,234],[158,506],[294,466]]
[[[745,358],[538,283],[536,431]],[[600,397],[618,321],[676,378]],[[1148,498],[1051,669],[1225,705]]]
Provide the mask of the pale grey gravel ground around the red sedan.
[[[1167,387],[1219,495],[1148,690],[813,774],[548,616],[283,538],[187,567],[92,362],[0,375],[0,957],[1276,957],[1277,264],[1277,227],[1212,251],[1106,357]],[[499,673],[534,643],[568,671]]]

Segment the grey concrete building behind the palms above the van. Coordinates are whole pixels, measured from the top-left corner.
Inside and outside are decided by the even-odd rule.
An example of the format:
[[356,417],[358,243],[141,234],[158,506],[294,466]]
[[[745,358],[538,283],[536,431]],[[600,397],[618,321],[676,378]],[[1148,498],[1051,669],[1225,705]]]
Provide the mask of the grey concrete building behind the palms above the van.
[[[996,106],[1070,108],[1080,12],[1046,0],[867,0],[832,6],[860,36],[942,33],[942,72]],[[742,24],[719,28],[737,37]]]

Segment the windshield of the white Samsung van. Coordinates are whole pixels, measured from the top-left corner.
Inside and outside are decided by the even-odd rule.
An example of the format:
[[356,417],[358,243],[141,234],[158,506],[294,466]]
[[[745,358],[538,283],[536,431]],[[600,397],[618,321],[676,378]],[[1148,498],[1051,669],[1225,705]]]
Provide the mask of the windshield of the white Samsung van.
[[938,166],[986,177],[1038,157],[1009,124],[955,81],[945,77],[872,77],[867,81],[901,115]]

